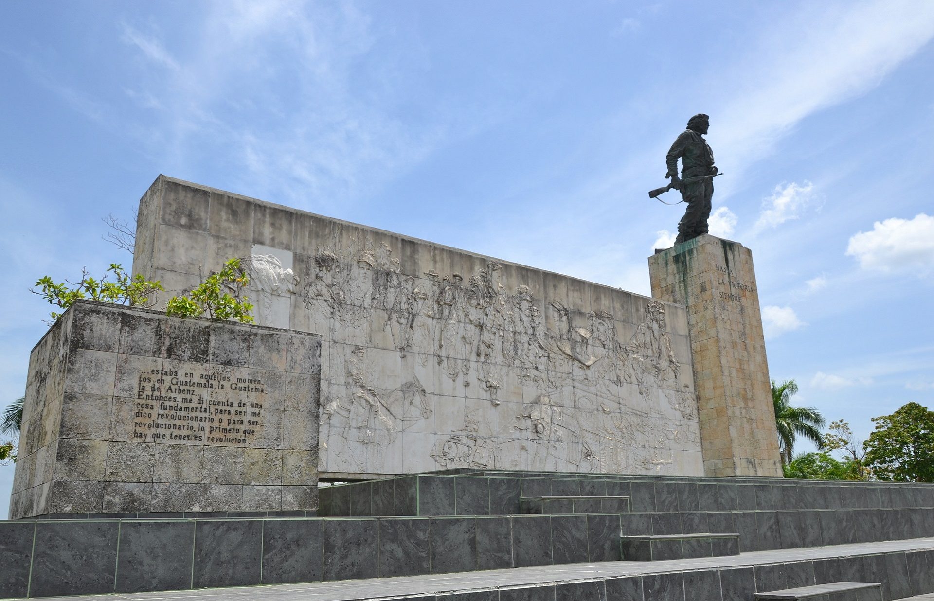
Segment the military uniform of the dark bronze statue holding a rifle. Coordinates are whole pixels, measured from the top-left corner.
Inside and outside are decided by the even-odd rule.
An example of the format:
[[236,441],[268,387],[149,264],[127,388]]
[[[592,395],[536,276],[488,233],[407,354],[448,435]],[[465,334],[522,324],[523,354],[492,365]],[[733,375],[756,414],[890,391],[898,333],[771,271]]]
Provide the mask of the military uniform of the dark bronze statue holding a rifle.
[[[681,159],[681,178],[689,179],[700,175],[714,175],[714,151],[700,133],[685,130],[672,144],[665,158],[669,175],[678,173]],[[678,223],[678,238],[675,244],[707,233],[707,217],[710,217],[711,198],[714,196],[714,178],[705,177],[681,186],[681,197],[687,203],[685,217]]]

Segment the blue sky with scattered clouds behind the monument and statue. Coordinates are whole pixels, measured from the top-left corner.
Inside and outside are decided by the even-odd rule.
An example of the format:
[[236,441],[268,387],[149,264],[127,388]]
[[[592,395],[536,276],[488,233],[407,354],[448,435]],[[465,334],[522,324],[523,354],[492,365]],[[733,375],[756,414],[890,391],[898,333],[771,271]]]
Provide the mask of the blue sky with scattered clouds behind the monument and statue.
[[5,2],[0,399],[27,288],[129,265],[101,218],[160,173],[647,294],[704,112],[771,376],[865,438],[934,407],[932,38],[925,0]]

